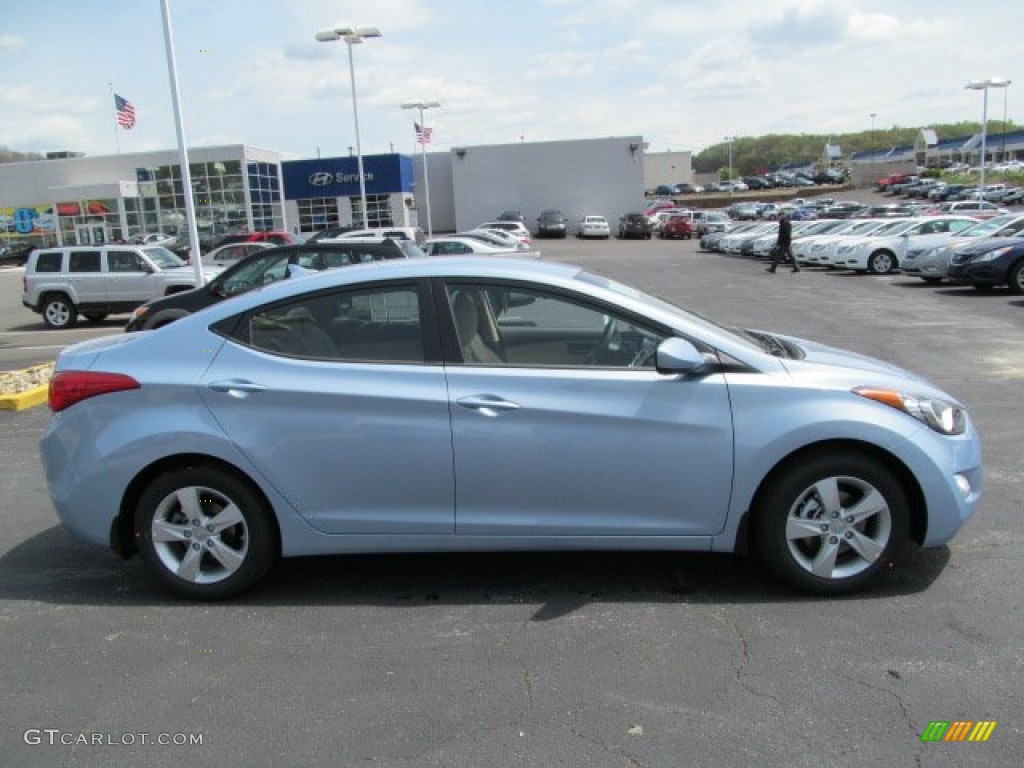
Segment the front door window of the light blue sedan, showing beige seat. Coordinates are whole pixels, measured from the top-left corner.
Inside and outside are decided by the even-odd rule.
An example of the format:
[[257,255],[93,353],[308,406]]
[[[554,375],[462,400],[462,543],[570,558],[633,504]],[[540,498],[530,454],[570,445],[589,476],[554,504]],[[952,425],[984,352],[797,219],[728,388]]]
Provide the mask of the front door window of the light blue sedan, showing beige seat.
[[518,286],[447,286],[467,365],[652,369],[668,334],[607,307]]

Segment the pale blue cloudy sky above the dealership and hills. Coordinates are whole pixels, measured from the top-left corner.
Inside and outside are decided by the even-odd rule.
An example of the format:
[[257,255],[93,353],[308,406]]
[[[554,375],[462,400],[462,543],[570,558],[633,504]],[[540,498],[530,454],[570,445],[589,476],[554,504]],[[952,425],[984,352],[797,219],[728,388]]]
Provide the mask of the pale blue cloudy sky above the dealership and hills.
[[[12,0],[0,0],[3,5]],[[968,80],[1020,83],[989,117],[1024,122],[1009,0],[168,0],[190,145],[298,157],[354,144],[413,152],[432,99],[435,150],[642,135],[651,151],[726,135],[830,133],[980,120]],[[0,145],[89,155],[176,145],[160,0],[35,0],[2,13]],[[136,108],[115,130],[111,84]],[[1020,88],[1020,90],[1018,89]],[[872,113],[876,115],[871,118]]]

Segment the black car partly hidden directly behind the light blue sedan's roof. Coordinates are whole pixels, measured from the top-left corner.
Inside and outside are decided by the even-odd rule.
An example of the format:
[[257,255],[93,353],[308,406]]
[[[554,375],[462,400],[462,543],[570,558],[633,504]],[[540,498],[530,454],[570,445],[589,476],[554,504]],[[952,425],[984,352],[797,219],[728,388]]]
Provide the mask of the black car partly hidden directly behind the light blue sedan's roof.
[[132,312],[126,332],[152,331],[231,296],[309,270],[425,256],[412,241],[350,239],[268,248],[242,259],[202,288],[155,299]]

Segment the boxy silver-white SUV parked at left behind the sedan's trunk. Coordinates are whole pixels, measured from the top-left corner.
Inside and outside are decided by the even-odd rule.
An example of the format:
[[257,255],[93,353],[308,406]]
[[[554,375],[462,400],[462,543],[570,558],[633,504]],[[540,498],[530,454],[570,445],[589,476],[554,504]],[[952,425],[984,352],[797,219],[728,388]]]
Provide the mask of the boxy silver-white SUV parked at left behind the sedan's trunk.
[[[204,268],[209,281],[219,270]],[[81,313],[98,322],[139,304],[196,288],[190,266],[162,246],[40,248],[25,267],[22,303],[47,328],[71,328]]]

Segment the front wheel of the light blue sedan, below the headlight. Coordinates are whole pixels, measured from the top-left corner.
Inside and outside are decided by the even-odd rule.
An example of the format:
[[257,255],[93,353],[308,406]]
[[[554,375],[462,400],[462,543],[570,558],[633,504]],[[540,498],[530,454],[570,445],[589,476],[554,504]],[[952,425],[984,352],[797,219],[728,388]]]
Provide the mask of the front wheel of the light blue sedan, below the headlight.
[[899,554],[910,505],[882,463],[826,453],[779,468],[752,513],[754,547],[782,582],[844,595],[873,582]]

